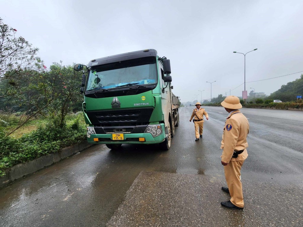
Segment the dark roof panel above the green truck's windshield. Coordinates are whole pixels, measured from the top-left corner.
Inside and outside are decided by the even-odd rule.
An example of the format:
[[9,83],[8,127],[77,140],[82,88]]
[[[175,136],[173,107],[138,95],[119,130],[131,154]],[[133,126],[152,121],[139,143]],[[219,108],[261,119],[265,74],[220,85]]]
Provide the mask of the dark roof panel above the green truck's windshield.
[[92,67],[92,66],[98,66],[98,65],[103,65],[103,64],[108,64],[112,62],[117,62],[117,61],[125,61],[125,60],[130,60],[130,59],[135,59],[135,58],[144,58],[144,57],[157,57],[157,51],[155,49],[145,49],[141,51],[133,51],[133,52],[127,52],[123,54],[116,54],[104,58],[97,58],[93,59],[92,61],[88,62],[87,67]]

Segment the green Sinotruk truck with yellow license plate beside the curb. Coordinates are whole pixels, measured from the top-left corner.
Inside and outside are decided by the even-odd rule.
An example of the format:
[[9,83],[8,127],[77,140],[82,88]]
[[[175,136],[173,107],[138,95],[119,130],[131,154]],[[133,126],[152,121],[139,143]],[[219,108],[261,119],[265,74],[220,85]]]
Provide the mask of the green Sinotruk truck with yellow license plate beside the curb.
[[147,49],[93,59],[80,91],[88,143],[118,149],[123,143],[171,146],[179,124],[179,99],[171,89],[171,67],[166,57]]

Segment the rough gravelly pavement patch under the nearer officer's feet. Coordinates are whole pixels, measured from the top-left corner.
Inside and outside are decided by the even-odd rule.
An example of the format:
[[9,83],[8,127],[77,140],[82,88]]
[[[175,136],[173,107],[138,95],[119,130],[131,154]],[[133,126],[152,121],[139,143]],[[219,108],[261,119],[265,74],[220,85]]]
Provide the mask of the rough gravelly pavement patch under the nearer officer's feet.
[[221,186],[224,176],[141,172],[107,226],[303,226],[302,186],[245,179],[244,210],[220,205]]

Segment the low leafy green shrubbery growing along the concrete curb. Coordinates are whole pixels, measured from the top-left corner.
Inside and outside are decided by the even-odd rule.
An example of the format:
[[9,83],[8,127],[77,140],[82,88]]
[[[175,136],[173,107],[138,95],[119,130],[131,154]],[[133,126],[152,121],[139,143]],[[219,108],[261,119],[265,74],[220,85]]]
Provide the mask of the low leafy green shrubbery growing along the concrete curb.
[[[61,148],[81,142],[86,138],[86,124],[82,115],[71,115],[64,127],[58,126],[58,118],[51,116],[46,125],[23,134],[19,139],[5,136],[0,130],[0,176],[4,170],[19,163],[24,163]],[[1,129],[1,128],[0,128]]]

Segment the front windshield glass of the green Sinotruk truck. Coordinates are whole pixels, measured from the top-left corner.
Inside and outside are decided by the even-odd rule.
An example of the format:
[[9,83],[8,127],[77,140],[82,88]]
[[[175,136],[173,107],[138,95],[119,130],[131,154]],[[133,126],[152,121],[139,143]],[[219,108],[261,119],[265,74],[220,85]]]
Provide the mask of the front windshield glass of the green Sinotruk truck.
[[146,87],[157,82],[156,58],[145,57],[92,67],[86,90],[103,88],[101,90],[107,91],[129,88],[130,84]]

